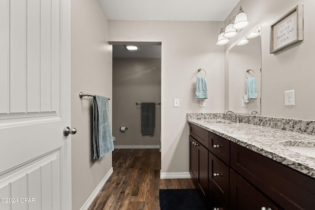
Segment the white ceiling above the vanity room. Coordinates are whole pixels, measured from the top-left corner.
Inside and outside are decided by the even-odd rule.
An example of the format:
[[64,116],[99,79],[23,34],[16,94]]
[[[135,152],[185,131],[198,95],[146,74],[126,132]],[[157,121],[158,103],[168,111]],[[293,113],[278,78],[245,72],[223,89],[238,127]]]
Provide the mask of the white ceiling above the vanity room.
[[224,21],[240,0],[98,0],[108,20]]

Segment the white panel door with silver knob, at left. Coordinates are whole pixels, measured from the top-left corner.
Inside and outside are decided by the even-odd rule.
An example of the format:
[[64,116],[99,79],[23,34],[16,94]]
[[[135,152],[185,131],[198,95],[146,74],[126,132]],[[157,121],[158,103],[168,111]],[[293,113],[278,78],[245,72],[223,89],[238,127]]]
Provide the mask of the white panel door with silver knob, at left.
[[0,210],[71,210],[70,0],[0,0]]

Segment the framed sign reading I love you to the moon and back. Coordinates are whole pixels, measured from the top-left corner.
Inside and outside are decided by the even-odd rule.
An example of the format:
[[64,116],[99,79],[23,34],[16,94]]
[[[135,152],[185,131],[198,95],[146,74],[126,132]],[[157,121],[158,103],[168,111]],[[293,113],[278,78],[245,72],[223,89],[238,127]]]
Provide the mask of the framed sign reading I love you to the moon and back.
[[303,40],[303,5],[297,5],[270,26],[270,53]]

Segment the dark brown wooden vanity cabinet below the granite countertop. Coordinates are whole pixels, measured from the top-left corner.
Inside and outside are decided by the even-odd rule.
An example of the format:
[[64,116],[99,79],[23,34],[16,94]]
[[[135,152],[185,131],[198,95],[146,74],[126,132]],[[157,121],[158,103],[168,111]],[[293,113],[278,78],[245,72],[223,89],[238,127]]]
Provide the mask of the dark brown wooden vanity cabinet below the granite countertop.
[[189,172],[211,210],[315,209],[314,178],[196,125],[189,128]]

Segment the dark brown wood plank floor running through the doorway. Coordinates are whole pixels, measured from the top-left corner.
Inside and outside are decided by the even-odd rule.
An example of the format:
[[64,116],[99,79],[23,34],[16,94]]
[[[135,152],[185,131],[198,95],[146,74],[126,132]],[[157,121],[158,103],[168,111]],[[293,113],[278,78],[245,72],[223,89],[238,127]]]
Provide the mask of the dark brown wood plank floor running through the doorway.
[[113,151],[114,172],[89,210],[159,210],[159,189],[195,188],[191,179],[160,180],[158,149]]

